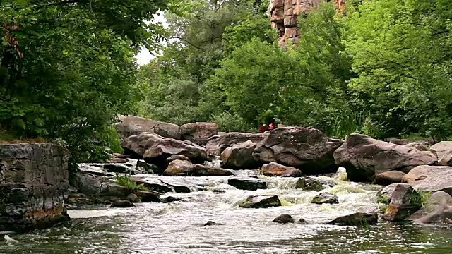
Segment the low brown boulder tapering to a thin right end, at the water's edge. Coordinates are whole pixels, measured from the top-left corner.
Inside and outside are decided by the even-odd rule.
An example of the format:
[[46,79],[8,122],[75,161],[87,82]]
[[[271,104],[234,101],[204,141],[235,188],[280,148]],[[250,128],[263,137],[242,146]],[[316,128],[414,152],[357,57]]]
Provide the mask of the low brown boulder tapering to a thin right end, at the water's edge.
[[163,174],[165,176],[231,176],[232,172],[177,159],[169,163]]

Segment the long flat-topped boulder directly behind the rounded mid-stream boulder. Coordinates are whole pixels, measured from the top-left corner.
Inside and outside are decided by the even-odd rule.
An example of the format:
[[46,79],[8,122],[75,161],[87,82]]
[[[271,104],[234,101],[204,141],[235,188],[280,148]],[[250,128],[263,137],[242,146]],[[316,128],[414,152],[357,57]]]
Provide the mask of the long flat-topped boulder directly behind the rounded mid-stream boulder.
[[206,144],[208,155],[221,155],[222,151],[232,145],[244,143],[250,140],[253,143],[261,143],[268,133],[220,133],[209,138]]

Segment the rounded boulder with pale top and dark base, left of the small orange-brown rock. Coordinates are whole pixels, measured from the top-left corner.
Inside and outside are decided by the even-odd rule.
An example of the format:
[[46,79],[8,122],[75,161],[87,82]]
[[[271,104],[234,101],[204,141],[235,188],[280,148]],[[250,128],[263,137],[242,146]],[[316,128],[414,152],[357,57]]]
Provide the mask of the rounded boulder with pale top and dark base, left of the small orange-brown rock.
[[227,147],[220,156],[227,169],[257,169],[259,164],[253,158],[256,143],[248,140],[244,143]]

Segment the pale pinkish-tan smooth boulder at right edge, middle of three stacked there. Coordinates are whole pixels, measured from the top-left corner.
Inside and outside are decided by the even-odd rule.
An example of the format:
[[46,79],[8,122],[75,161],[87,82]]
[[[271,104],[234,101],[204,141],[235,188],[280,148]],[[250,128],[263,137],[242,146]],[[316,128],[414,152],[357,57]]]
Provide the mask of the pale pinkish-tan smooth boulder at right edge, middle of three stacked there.
[[452,167],[418,166],[405,174],[403,183],[409,183],[416,191],[444,191],[452,195]]

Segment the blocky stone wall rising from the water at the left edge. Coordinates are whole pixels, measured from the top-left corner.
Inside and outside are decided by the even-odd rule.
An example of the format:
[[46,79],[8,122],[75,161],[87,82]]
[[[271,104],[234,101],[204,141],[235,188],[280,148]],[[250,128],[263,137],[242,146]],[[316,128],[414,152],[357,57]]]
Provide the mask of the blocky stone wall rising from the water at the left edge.
[[0,231],[43,229],[69,219],[69,151],[54,144],[0,145]]

